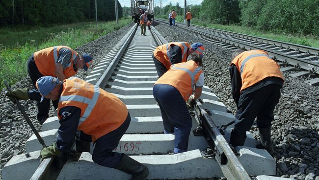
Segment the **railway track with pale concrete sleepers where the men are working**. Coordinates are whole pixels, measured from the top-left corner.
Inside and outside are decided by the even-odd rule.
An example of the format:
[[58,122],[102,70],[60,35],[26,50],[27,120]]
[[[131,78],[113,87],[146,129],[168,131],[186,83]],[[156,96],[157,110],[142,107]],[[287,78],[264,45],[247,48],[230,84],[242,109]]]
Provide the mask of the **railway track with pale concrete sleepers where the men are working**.
[[[126,105],[132,122],[122,137],[116,152],[129,154],[145,164],[150,170],[149,179],[213,179],[226,177],[228,180],[268,180],[276,175],[276,162],[266,150],[255,149],[256,141],[247,132],[245,145],[237,147],[235,156],[227,143],[232,126],[221,130],[220,126],[234,119],[226,112],[223,103],[203,88],[201,100],[193,109],[192,130],[199,125],[204,136],[189,136],[188,152],[172,154],[174,135],[163,134],[160,108],[152,95],[152,87],[158,79],[152,60],[154,49],[166,40],[154,27],[147,36],[139,35],[137,26],[122,38],[106,57],[85,78],[87,82],[115,94]],[[56,116],[50,117],[42,126],[40,135],[47,145],[55,140],[59,127]],[[213,147],[213,153],[201,151]],[[91,152],[94,146],[91,145]],[[35,135],[26,142],[26,154],[14,156],[4,166],[3,180],[122,180],[129,175],[118,170],[95,164],[90,153],[82,153],[76,161],[60,163],[57,170],[53,158],[39,161],[41,144]],[[63,157],[62,157],[63,158]],[[266,168],[265,168],[266,167]],[[264,179],[263,179],[264,178]],[[271,180],[271,179],[270,179]]]

